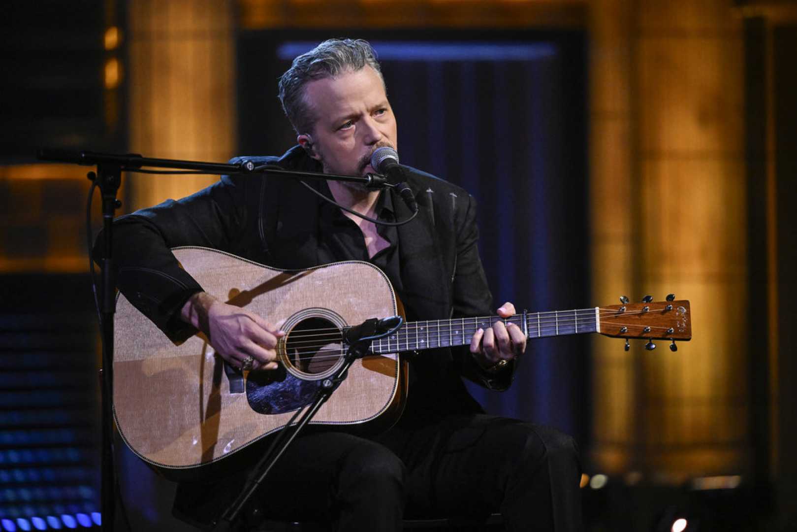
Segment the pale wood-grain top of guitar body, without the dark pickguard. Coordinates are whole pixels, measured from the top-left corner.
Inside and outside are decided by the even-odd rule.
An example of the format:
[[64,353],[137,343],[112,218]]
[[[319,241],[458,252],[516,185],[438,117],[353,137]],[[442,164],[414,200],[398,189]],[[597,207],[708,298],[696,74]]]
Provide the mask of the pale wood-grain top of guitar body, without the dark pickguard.
[[[367,262],[285,271],[206,248],[173,252],[206,292],[272,322],[312,309],[332,311],[346,325],[397,313],[391,283]],[[136,455],[165,472],[216,462],[277,431],[318,386],[278,370],[249,374],[246,392],[231,393],[222,358],[201,333],[176,345],[122,295],[115,324],[116,424]],[[313,423],[395,420],[406,396],[402,365],[395,353],[355,361]]]

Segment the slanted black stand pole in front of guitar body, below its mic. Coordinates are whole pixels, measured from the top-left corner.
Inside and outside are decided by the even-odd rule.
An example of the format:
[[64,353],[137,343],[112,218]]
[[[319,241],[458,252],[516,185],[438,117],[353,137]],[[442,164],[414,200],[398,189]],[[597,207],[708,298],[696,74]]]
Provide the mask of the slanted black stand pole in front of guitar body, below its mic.
[[335,392],[338,386],[340,386],[340,383],[346,379],[348,368],[354,364],[356,359],[363,357],[368,352],[368,349],[371,347],[371,341],[372,338],[369,338],[367,340],[355,342],[355,344],[349,346],[349,349],[347,349],[344,355],[343,365],[340,366],[335,375],[329,376],[321,381],[321,387],[318,389],[318,392],[316,392],[316,396],[313,398],[312,403],[304,410],[304,414],[301,416],[299,422],[296,425],[293,424],[302,410],[298,410],[289,420],[288,424],[285,424],[285,427],[283,427],[277,435],[277,439],[274,439],[268,451],[265,451],[263,457],[257,462],[257,465],[253,467],[246,486],[241,491],[241,494],[238,495],[238,499],[235,499],[224,512],[222,518],[214,523],[213,530],[215,532],[234,530],[233,526],[235,526],[240,518],[241,511],[243,511],[249,499],[252,499],[254,492],[257,491],[257,488],[263,483],[265,477],[269,475],[269,471],[272,470],[274,464],[277,463],[277,460],[285,453],[285,450],[289,447],[291,442],[296,439],[296,436],[299,435],[302,429],[316,416],[321,406],[332,396],[332,392]]

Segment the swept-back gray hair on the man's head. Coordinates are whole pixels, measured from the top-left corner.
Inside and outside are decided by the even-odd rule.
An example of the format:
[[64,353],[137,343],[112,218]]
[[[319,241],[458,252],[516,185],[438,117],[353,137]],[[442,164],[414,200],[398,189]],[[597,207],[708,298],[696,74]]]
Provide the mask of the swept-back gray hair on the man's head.
[[280,77],[280,102],[296,133],[312,131],[315,118],[304,100],[304,85],[309,81],[336,77],[347,70],[356,72],[366,65],[379,74],[384,85],[382,70],[376,53],[363,39],[329,39],[293,60],[291,68]]

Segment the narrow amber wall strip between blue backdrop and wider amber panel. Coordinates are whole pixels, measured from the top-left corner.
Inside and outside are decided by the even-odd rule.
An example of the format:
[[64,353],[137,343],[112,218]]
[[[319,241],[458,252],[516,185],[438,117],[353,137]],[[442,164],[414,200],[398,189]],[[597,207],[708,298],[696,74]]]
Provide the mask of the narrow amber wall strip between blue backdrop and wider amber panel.
[[[600,305],[633,297],[634,196],[630,109],[632,10],[623,0],[590,4],[590,185],[592,286]],[[593,341],[592,455],[603,471],[625,471],[633,456],[634,366],[622,342]]]

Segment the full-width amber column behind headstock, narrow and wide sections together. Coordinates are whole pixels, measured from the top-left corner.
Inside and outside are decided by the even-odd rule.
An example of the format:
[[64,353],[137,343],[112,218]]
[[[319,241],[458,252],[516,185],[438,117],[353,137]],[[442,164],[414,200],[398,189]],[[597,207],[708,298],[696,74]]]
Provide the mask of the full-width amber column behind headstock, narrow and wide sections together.
[[[593,116],[599,128],[591,145],[595,294],[606,294],[611,285],[615,294],[606,295],[616,298],[617,280],[627,280],[634,285],[628,295],[636,300],[644,294],[662,299],[669,292],[688,298],[694,339],[676,353],[665,342],[653,352],[635,345],[622,353],[612,345],[616,353],[609,353],[605,340],[596,341],[595,459],[611,471],[633,469],[673,483],[744,472],[742,21],[724,0],[649,0],[624,8],[630,10],[624,26],[616,17],[606,20],[607,3],[614,2],[593,6],[594,48],[596,55],[612,49],[618,34],[630,30],[622,43],[630,60],[614,46],[614,57],[630,65],[623,71],[629,73],[627,85],[613,92],[627,91],[622,103],[630,111],[614,121],[631,134],[627,141],[619,132],[607,139],[609,120]],[[615,29],[607,34],[612,24]],[[593,61],[594,113],[611,101],[611,96],[596,101],[607,91],[607,68],[600,65],[596,72],[598,67]],[[617,150],[623,162],[614,171],[601,167],[606,154],[614,157]],[[626,150],[630,171],[622,166]],[[623,201],[609,201],[605,191]],[[610,270],[614,274],[607,275]]]

